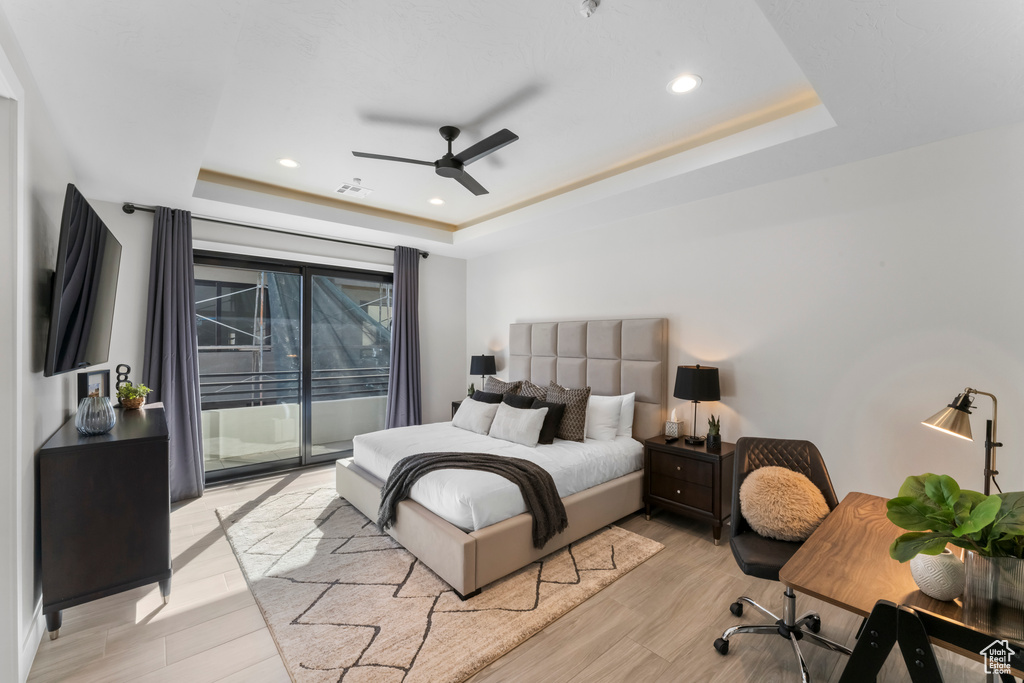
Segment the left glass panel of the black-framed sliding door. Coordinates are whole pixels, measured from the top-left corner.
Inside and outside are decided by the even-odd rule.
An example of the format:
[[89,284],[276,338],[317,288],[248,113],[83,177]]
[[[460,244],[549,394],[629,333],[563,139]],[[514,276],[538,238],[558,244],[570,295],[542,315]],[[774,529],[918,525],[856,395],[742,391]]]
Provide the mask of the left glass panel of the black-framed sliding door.
[[195,265],[207,480],[299,464],[302,275],[215,260]]

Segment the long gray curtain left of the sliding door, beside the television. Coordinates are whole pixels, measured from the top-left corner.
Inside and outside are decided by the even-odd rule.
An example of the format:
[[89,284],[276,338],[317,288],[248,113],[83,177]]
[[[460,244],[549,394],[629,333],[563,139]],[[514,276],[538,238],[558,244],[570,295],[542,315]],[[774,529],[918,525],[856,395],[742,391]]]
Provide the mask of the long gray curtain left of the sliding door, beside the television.
[[142,383],[163,401],[170,434],[171,501],[203,495],[203,432],[196,336],[191,214],[159,207],[153,221]]

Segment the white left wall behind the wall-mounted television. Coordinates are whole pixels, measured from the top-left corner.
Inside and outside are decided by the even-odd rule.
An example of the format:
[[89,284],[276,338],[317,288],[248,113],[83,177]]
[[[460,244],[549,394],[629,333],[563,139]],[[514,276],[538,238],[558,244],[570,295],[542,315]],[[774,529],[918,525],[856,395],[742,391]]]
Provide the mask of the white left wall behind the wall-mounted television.
[[[14,225],[4,224],[5,250],[0,267],[13,271],[14,287],[0,293],[8,305],[2,307],[0,326],[14,331],[13,349],[0,347],[13,359],[13,378],[0,375],[0,391],[14,394],[14,433],[5,433],[0,457],[10,458],[10,477],[0,481],[0,680],[25,680],[35,656],[43,626],[40,617],[39,563],[36,551],[35,454],[70,415],[68,376],[44,378],[46,318],[49,311],[50,272],[56,259],[56,239],[65,186],[74,181],[56,131],[32,79],[24,55],[0,11],[0,81],[14,119],[16,155],[14,168]],[[10,146],[2,163],[12,162]],[[10,228],[13,229],[10,229]],[[8,282],[9,285],[9,282]],[[12,555],[9,554],[12,551]]]

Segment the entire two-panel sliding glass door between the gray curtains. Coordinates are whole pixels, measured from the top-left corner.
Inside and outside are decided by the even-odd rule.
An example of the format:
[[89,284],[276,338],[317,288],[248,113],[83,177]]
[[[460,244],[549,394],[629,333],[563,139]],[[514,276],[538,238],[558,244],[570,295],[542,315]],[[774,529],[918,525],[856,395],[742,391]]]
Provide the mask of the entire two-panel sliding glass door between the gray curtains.
[[195,261],[207,481],[334,460],[384,427],[390,274]]

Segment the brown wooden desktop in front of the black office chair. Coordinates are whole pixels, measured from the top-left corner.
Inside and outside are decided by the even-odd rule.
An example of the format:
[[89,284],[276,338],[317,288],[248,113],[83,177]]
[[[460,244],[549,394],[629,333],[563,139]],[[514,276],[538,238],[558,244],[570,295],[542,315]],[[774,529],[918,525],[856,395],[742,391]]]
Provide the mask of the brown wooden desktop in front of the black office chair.
[[[928,597],[918,590],[910,566],[889,557],[890,544],[903,532],[886,517],[886,499],[849,494],[785,563],[779,581],[799,593],[861,616],[867,616],[879,600],[889,600],[912,607],[924,616],[945,617],[953,630],[967,630],[959,601]],[[931,629],[929,634],[934,644],[982,660],[977,650],[936,638]],[[1017,675],[1021,673],[1017,671]]]

